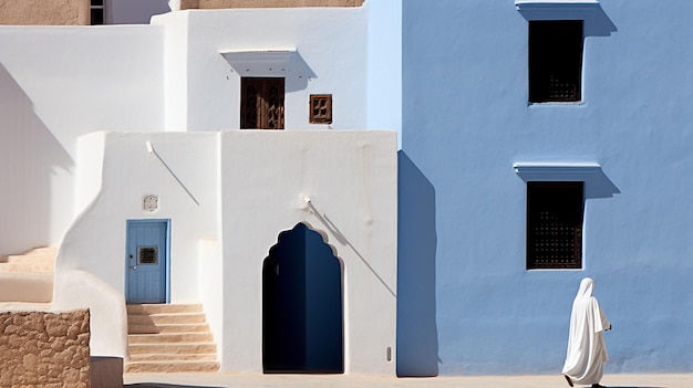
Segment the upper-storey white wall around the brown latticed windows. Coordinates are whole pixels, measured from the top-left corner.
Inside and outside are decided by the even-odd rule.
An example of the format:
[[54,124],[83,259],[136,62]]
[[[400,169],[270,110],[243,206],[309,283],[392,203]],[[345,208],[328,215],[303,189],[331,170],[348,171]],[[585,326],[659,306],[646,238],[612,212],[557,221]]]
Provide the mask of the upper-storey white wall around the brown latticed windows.
[[[180,24],[180,18],[185,18]],[[286,128],[322,129],[308,116],[310,94],[332,94],[332,128],[366,127],[368,18],[364,8],[296,8],[188,10],[153,18],[174,31],[175,48],[167,51],[166,117],[176,128],[180,119],[188,130],[238,128],[240,76],[286,77]],[[177,44],[186,44],[187,50]],[[167,48],[172,42],[166,43]],[[234,66],[221,53],[296,51],[285,66],[250,71]],[[187,67],[187,69],[184,69]],[[281,71],[283,69],[283,72]],[[182,107],[182,104],[185,104]],[[172,119],[176,117],[176,119]]]

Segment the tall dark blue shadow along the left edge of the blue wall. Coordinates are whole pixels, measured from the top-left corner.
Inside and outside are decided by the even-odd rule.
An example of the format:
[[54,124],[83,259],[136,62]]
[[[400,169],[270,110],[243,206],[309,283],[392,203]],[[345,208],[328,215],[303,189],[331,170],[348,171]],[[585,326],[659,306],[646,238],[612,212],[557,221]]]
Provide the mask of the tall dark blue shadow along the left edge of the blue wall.
[[435,190],[403,150],[397,156],[397,376],[437,376]]

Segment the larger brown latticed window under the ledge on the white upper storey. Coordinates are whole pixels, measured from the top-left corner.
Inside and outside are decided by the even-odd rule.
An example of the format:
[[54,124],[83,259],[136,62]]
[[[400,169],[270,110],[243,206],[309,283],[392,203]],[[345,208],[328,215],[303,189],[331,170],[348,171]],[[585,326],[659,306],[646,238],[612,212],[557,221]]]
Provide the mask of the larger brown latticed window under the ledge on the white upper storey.
[[285,78],[240,78],[240,128],[283,129]]

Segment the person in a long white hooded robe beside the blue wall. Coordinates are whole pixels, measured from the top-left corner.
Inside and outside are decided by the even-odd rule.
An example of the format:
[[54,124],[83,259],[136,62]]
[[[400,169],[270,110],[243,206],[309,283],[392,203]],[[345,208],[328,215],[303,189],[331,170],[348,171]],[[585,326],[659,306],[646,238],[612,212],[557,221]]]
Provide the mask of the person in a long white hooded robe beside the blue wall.
[[580,385],[599,384],[603,365],[609,359],[602,332],[611,324],[592,296],[594,282],[585,277],[572,302],[568,352],[562,374]]

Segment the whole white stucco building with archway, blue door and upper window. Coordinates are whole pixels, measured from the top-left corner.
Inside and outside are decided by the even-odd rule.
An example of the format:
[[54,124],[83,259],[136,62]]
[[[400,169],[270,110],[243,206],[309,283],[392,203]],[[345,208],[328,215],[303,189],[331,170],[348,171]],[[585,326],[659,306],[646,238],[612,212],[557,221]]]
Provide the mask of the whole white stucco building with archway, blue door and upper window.
[[45,308],[92,308],[92,356],[127,360],[125,302],[201,303],[220,369],[259,373],[262,327],[283,327],[263,274],[304,235],[342,303],[325,368],[394,375],[396,132],[363,130],[400,126],[383,7],[0,28],[0,255],[60,247]]

